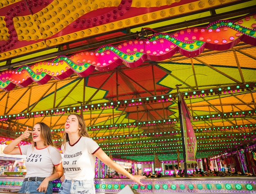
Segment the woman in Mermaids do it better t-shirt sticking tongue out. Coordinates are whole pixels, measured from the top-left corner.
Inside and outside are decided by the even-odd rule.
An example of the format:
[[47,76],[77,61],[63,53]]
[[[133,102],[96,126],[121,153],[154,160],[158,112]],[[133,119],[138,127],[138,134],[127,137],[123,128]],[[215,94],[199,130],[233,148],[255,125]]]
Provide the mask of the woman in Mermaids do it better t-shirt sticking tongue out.
[[109,167],[144,186],[140,182],[146,176],[132,175],[121,165],[112,161],[99,145],[90,138],[83,118],[70,114],[65,123],[65,133],[61,146],[64,176],[59,194],[95,194],[95,156]]

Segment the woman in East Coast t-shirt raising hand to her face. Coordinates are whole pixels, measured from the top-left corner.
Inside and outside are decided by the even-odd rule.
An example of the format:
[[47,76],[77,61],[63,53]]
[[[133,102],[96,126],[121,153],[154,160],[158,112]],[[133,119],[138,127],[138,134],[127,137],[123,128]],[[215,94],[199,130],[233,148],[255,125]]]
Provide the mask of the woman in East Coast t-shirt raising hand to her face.
[[[16,147],[32,134],[32,144]],[[26,155],[27,173],[18,193],[52,194],[52,181],[63,175],[61,153],[54,147],[51,129],[45,123],[36,123],[3,150],[4,154]],[[54,172],[54,173],[53,173]]]

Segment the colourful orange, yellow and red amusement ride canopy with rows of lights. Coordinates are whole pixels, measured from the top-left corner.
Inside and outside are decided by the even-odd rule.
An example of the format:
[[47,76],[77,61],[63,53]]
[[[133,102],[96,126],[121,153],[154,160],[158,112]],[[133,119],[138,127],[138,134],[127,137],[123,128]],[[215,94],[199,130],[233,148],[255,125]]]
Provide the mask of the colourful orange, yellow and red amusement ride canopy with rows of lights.
[[254,0],[0,1],[1,143],[44,122],[60,147],[77,113],[113,158],[176,160],[180,91],[196,158],[254,144],[255,11]]

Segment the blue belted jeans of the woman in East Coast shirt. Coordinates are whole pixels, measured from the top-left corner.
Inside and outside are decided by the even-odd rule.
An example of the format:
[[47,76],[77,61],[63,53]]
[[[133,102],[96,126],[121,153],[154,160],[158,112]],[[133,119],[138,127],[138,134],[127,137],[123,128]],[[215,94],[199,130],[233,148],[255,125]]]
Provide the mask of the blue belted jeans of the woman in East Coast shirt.
[[[44,191],[38,192],[38,190],[36,190],[42,182],[43,181],[24,181],[18,193],[44,194],[45,193]],[[45,194],[52,194],[52,181],[49,182],[49,185],[47,187],[47,191]]]

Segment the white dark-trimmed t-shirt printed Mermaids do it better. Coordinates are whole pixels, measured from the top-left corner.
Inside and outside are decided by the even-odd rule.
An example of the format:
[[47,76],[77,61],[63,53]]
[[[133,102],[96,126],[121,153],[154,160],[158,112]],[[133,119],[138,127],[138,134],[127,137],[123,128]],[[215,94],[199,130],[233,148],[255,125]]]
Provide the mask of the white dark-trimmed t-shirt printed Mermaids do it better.
[[88,137],[81,137],[74,145],[66,142],[63,151],[63,168],[67,180],[93,180],[95,176],[95,156],[99,145]]

